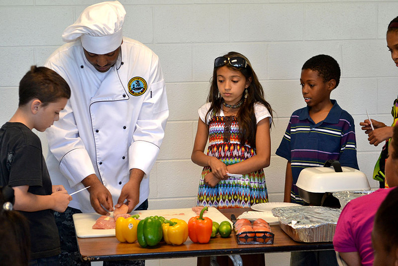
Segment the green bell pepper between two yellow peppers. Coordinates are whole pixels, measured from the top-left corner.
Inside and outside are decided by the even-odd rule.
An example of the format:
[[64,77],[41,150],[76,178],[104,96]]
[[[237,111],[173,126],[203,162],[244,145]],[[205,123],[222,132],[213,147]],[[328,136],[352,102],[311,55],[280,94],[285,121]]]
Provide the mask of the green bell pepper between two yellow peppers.
[[164,220],[162,216],[149,216],[138,223],[137,240],[141,247],[153,247],[162,240]]

